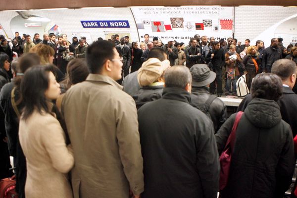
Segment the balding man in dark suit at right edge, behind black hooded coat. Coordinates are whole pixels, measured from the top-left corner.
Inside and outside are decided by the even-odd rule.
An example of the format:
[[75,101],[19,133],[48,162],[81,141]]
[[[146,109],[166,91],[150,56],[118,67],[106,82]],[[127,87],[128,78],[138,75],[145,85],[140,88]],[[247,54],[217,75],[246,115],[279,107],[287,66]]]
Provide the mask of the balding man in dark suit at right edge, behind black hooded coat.
[[[278,75],[283,81],[283,96],[277,102],[282,119],[290,124],[293,137],[295,137],[297,135],[297,95],[292,89],[296,81],[296,64],[289,59],[277,60],[272,65],[271,73]],[[251,99],[251,95],[247,95],[239,104],[237,111],[244,111]]]

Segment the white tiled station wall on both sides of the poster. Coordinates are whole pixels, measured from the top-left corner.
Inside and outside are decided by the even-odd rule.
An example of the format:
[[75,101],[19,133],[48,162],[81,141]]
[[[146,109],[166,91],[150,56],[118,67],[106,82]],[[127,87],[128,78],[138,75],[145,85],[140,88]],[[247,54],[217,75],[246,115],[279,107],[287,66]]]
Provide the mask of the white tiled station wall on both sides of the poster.
[[[60,28],[62,33],[68,35],[69,41],[71,41],[73,33],[76,33],[76,35],[80,34],[81,36],[84,35],[87,38],[90,36],[91,41],[97,40],[98,37],[106,39],[105,36],[108,33],[120,33],[120,36],[130,33],[130,41],[139,41],[139,38],[143,36],[138,35],[137,26],[130,8],[27,10],[23,13],[49,18],[53,24],[56,24]],[[162,17],[167,17],[165,15]],[[15,11],[0,11],[0,24],[3,28],[0,29],[0,34],[4,34],[3,30],[5,30],[9,38],[14,37],[13,28],[15,29],[15,27],[10,25],[10,21],[15,16],[18,16],[18,13]],[[297,17],[297,7],[234,7],[234,37],[242,43],[248,38],[251,40],[252,45],[258,39],[263,40],[265,47],[270,45],[271,38],[282,37],[284,38],[284,46],[287,46],[292,43],[291,38],[297,37],[297,23],[286,23],[285,29],[288,30],[286,32],[280,32],[277,29],[278,27],[282,27],[280,26],[281,24],[285,24],[286,21],[289,21],[289,19],[295,16]],[[172,17],[172,15],[168,14],[168,17]],[[82,20],[128,20],[130,28],[83,28],[80,22]],[[35,33],[34,27],[31,29]],[[17,31],[21,34],[28,33],[25,28],[20,28]],[[38,33],[42,37],[44,32]],[[195,33],[191,32],[193,36]],[[204,32],[199,30],[198,33],[202,36]],[[213,36],[209,32],[206,35],[208,37]]]

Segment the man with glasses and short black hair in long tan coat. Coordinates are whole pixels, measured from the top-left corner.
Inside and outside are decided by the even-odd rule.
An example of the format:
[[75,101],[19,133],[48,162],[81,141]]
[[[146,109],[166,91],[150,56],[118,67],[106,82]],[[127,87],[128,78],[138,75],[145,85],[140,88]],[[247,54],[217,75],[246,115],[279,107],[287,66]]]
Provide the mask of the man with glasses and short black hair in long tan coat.
[[144,191],[137,110],[123,92],[122,58],[108,41],[86,52],[90,74],[65,94],[61,111],[74,151],[74,198],[134,198]]

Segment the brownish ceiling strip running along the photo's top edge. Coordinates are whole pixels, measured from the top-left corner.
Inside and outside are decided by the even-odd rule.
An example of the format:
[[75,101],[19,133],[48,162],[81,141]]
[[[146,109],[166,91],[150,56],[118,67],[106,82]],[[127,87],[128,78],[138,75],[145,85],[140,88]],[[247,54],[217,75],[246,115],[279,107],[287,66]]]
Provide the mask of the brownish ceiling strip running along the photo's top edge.
[[[3,6],[5,5],[5,6]],[[180,6],[180,5],[283,5],[297,6],[297,0],[2,0],[0,10],[128,7],[128,6]]]

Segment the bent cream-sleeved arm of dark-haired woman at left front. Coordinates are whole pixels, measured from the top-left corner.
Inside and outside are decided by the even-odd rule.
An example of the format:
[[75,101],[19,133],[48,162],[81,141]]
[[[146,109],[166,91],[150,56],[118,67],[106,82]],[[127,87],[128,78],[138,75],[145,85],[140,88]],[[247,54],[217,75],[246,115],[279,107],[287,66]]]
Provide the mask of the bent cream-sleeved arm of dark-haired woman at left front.
[[66,147],[64,131],[55,117],[47,117],[41,135],[42,144],[49,153],[52,166],[61,173],[68,173],[74,165],[73,150]]

